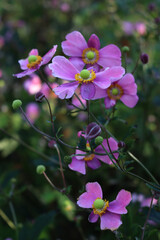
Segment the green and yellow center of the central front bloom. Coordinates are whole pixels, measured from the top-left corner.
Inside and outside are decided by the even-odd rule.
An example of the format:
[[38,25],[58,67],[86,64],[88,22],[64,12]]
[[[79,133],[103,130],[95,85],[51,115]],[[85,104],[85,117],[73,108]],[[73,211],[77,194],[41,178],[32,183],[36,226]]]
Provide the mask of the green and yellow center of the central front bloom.
[[93,70],[83,69],[80,73],[75,75],[76,81],[81,83],[90,83],[93,82],[96,78],[96,74]]

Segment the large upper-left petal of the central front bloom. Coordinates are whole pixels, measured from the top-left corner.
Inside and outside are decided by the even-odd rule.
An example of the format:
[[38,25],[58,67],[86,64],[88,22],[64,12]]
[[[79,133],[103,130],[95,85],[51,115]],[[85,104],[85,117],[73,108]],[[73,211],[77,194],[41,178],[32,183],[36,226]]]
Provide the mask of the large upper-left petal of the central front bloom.
[[74,65],[65,57],[56,56],[49,64],[54,77],[62,78],[65,80],[75,80],[75,75],[79,72]]

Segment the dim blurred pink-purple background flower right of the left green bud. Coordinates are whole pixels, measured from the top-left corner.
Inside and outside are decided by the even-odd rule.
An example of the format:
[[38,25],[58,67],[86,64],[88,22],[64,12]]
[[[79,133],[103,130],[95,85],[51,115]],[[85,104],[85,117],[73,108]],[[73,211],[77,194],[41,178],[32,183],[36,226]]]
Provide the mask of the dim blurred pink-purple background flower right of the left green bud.
[[39,116],[39,107],[38,104],[36,103],[29,103],[26,106],[26,115],[29,118],[29,120],[31,121],[31,123],[34,123],[35,120],[38,118]]

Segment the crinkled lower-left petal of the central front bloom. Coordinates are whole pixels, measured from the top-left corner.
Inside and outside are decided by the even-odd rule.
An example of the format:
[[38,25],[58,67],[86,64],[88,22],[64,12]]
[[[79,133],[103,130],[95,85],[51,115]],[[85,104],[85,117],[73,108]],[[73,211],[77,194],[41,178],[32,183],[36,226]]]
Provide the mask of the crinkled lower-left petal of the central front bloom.
[[77,82],[64,83],[59,87],[54,88],[53,91],[55,92],[56,95],[58,95],[60,99],[71,98],[77,87],[78,87]]

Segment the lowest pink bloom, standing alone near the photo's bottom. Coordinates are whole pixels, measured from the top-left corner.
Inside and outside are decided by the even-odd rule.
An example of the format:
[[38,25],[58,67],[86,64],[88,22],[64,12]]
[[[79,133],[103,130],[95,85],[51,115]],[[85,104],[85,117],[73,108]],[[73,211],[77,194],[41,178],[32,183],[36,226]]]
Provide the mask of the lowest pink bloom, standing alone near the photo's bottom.
[[93,209],[88,218],[89,222],[97,222],[100,217],[101,230],[114,231],[122,224],[121,214],[127,213],[126,206],[132,199],[131,193],[122,189],[116,200],[112,202],[102,198],[103,193],[99,183],[90,182],[86,184],[86,192],[80,195],[77,204],[82,208]]

